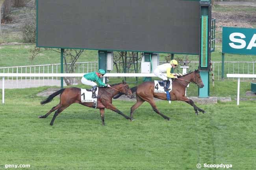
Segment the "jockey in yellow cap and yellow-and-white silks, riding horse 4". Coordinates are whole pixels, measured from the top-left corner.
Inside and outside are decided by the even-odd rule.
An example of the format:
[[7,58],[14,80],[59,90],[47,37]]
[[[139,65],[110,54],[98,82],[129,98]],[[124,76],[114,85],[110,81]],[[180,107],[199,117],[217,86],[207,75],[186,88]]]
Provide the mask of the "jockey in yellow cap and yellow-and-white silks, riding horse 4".
[[[154,74],[163,79],[163,86],[164,86],[164,90],[165,91],[169,91],[169,89],[167,89],[167,77],[171,78],[171,79],[177,79],[178,77],[176,76],[176,73],[171,73],[171,68],[176,68],[176,66],[179,65],[177,60],[171,60],[170,63],[166,63],[166,64],[161,64],[159,66],[157,66],[157,68],[154,70]],[[163,73],[167,73],[167,77],[163,74]]]

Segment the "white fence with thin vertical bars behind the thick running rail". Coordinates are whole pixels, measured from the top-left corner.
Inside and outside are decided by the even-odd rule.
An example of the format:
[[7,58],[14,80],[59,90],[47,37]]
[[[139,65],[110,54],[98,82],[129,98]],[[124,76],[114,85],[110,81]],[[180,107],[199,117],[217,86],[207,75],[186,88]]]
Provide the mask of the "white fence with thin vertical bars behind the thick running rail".
[[[163,64],[165,62],[160,62]],[[256,62],[225,62],[224,71],[225,75],[227,74],[254,74],[254,67]],[[70,63],[68,63],[70,64]],[[140,64],[140,62],[138,63]],[[182,66],[184,63],[180,63]],[[122,72],[122,62],[118,62],[119,70]],[[198,69],[198,62],[192,61],[187,62],[187,66],[189,66],[189,71],[193,71]],[[98,62],[77,62],[75,64],[75,73],[89,73],[92,71],[96,71],[98,69]],[[212,62],[213,69],[213,77],[215,80],[221,80],[221,62]],[[116,73],[116,68],[111,71],[111,73]],[[140,70],[139,70],[140,72]],[[175,69],[175,72],[182,72],[180,67]],[[44,64],[44,65],[32,65],[32,66],[13,66],[13,67],[2,67],[0,68],[0,73],[60,73],[60,64]],[[134,73],[134,72],[133,72]],[[234,79],[234,77],[226,77],[225,79]],[[30,88],[30,87],[38,87],[45,85],[57,85],[59,84],[58,77],[6,77],[7,84],[6,86],[9,88]],[[253,79],[254,78],[242,78],[243,80]],[[29,81],[27,81],[29,80]],[[78,80],[79,81],[79,80]],[[15,83],[16,82],[16,83]],[[75,78],[72,82],[76,82]]]

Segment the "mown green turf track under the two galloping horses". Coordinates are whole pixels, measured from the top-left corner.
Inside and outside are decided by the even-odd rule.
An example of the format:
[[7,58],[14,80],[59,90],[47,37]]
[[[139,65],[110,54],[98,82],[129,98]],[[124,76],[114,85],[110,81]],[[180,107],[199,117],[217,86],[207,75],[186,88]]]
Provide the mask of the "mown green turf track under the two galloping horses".
[[[101,125],[98,110],[73,104],[50,126],[53,113],[46,119],[37,116],[59,99],[40,106],[43,98],[36,94],[45,89],[6,90],[6,104],[0,104],[0,169],[6,164],[29,164],[32,170],[192,170],[197,163],[232,164],[233,170],[256,166],[255,101],[241,101],[239,106],[236,101],[198,104],[207,112],[198,116],[185,102],[158,101],[159,110],[171,121],[144,103],[133,122],[106,110],[106,126]],[[134,103],[113,101],[126,115]]]

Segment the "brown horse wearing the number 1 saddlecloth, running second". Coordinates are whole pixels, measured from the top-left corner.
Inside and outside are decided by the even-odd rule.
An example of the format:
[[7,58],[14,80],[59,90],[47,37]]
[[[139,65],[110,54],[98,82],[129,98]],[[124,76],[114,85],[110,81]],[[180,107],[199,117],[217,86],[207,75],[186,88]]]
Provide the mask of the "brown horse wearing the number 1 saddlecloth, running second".
[[[102,125],[105,125],[104,121],[104,113],[105,108],[113,110],[114,112],[122,115],[126,119],[130,119],[130,117],[124,115],[120,110],[118,110],[115,106],[112,104],[112,98],[117,93],[124,93],[127,97],[130,99],[133,98],[132,91],[130,90],[128,84],[126,82],[122,82],[119,84],[113,84],[111,85],[111,88],[98,88],[98,101],[97,101],[97,108],[100,110],[100,117],[102,120]],[[47,99],[44,101],[41,101],[41,104],[44,105],[52,99],[60,94],[60,102],[57,106],[54,106],[48,113],[46,113],[43,116],[39,116],[38,118],[46,118],[50,113],[54,112],[54,116],[52,117],[52,121],[50,122],[50,125],[53,125],[53,122],[56,118],[56,116],[59,115],[65,108],[69,107],[73,103],[79,103],[84,106],[93,108],[93,102],[81,102],[81,89],[80,88],[64,88],[59,91],[56,91],[55,93],[52,93]]]

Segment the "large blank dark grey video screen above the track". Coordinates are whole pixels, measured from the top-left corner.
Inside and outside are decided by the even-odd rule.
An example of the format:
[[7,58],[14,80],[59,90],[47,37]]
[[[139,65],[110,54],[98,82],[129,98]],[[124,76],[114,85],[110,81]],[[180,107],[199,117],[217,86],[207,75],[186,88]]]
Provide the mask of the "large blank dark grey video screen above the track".
[[199,54],[189,0],[37,0],[37,47]]

